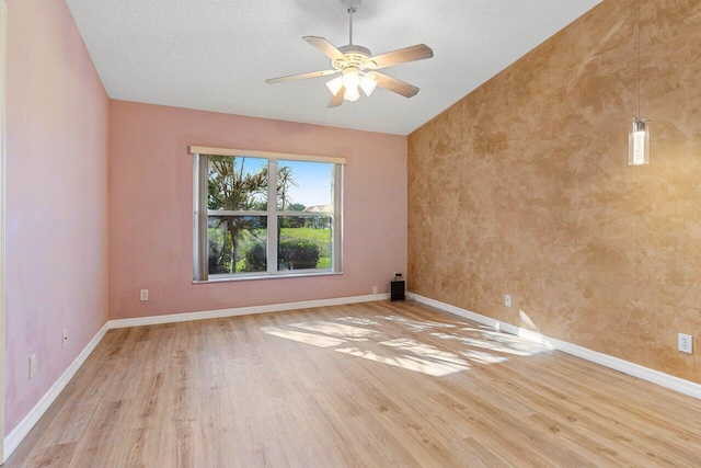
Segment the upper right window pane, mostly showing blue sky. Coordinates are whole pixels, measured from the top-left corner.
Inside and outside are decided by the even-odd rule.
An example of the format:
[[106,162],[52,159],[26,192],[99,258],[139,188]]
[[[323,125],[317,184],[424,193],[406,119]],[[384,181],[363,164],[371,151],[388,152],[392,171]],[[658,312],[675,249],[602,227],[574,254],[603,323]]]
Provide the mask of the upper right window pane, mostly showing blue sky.
[[277,209],[331,212],[333,164],[277,161]]

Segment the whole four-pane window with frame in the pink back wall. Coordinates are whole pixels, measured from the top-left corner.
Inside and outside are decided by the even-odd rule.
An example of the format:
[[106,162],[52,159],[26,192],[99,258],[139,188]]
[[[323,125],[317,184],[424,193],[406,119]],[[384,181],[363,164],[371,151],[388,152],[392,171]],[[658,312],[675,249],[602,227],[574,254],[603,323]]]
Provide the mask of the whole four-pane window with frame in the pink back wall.
[[342,271],[343,158],[205,147],[191,153],[194,281]]

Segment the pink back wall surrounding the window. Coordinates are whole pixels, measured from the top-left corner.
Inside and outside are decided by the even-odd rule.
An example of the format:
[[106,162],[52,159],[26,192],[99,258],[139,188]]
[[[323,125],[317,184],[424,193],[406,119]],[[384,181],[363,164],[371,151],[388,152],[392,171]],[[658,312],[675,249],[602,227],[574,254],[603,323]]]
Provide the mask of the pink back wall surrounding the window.
[[[188,145],[347,158],[344,274],[193,285]],[[112,101],[110,178],[112,319],[387,292],[406,270],[403,136]]]

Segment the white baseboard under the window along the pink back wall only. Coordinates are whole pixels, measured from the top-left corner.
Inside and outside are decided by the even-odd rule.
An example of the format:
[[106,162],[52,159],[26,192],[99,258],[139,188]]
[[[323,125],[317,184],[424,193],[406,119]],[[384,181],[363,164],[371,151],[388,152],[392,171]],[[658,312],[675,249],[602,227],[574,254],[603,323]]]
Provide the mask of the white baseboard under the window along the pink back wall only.
[[239,307],[233,309],[206,310],[202,312],[171,313],[168,316],[139,317],[136,319],[110,320],[110,330],[127,327],[154,326],[160,323],[187,322],[191,320],[220,319],[222,317],[250,316],[252,313],[281,312],[285,310],[311,309],[314,307],[342,306],[344,304],[371,303],[384,300],[389,294],[337,297],[333,299],[303,300],[299,303],[273,304],[269,306]]

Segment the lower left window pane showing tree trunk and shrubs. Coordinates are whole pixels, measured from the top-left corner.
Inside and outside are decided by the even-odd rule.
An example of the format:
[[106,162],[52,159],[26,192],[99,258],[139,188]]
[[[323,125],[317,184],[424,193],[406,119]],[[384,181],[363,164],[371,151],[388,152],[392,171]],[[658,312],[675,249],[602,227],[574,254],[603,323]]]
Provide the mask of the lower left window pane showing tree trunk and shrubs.
[[266,216],[209,216],[207,240],[210,275],[267,269]]

